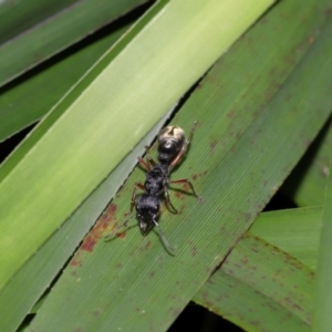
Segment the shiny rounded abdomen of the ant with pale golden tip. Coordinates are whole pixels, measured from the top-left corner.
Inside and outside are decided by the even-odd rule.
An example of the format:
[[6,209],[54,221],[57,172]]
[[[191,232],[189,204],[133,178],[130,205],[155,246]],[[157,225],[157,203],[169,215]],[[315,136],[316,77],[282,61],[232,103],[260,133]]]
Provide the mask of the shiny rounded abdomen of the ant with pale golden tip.
[[185,143],[185,131],[178,126],[167,126],[158,135],[158,159],[169,164]]

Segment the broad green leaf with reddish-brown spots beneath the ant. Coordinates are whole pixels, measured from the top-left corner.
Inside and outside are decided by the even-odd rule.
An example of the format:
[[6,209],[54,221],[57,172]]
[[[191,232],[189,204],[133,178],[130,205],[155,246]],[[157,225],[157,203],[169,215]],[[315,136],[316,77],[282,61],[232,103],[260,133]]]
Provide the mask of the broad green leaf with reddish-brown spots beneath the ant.
[[[264,32],[268,40],[268,35],[274,35],[266,25],[257,27],[255,37]],[[167,253],[156,234],[143,238],[137,228],[104,242],[102,218],[66,267],[31,330],[55,330],[59,320],[64,330],[166,330],[234,248],[329,117],[329,33],[324,31],[288,79],[293,65],[288,62],[282,66],[283,74],[277,77],[284,83],[281,87],[276,86],[276,75],[269,75],[276,63],[280,64],[276,40],[271,40],[276,54],[261,55],[263,66],[253,52],[256,39],[249,38],[250,32],[242,38],[174,118],[186,131],[194,120],[198,127],[186,160],[172,178],[190,177],[205,199],[199,204],[177,193],[179,200],[174,204],[181,215],[163,210],[160,225],[168,241],[177,246],[176,257]],[[253,49],[251,56],[245,52],[248,44]],[[280,50],[293,54],[291,48],[289,53]],[[239,80],[239,73],[251,80]],[[269,84],[253,84],[261,80]],[[267,91],[270,96],[278,93],[269,100]],[[133,185],[142,180],[144,174],[136,169],[112,201],[115,211],[108,218],[110,230],[125,220]],[[311,274],[305,276],[304,291],[311,284]],[[302,294],[304,311],[295,308],[294,313],[308,323],[312,303],[309,293]]]

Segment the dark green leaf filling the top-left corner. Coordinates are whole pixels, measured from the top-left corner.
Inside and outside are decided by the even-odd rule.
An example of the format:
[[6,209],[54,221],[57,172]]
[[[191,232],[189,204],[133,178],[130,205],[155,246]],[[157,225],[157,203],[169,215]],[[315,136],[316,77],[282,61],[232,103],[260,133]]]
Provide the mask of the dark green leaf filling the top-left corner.
[[33,2],[0,4],[0,86],[146,0]]

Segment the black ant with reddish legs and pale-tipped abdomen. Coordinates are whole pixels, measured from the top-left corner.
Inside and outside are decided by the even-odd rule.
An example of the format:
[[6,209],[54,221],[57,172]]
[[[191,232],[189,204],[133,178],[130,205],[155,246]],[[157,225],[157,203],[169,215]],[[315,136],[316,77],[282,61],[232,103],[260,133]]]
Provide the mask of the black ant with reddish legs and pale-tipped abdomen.
[[[168,184],[188,184],[193,195],[201,200],[197,196],[193,184],[189,179],[181,178],[177,180],[170,180],[169,174],[172,169],[180,162],[184,156],[187,147],[193,138],[194,131],[196,128],[197,122],[195,121],[189,134],[189,137],[186,139],[185,132],[178,126],[167,126],[162,129],[158,134],[158,162],[156,163],[149,155],[146,147],[146,158],[145,162],[142,158],[138,158],[138,163],[142,167],[147,170],[146,180],[143,184],[136,183],[134,185],[134,190],[131,201],[131,211],[133,212],[134,206],[136,207],[136,217],[138,219],[138,226],[143,235],[147,235],[149,230],[156,226],[160,236],[160,239],[168,250],[169,253],[174,255],[174,249],[170,247],[164,232],[160,229],[157,218],[160,210],[160,196],[163,195],[168,207],[173,209],[174,214],[178,214],[178,210],[174,207],[169,199],[168,194]],[[137,188],[144,190],[144,194],[141,194],[137,198]],[[131,218],[132,219],[132,218]],[[127,227],[126,220],[123,225],[112,231],[105,237],[105,240],[108,240],[113,237],[120,228]]]

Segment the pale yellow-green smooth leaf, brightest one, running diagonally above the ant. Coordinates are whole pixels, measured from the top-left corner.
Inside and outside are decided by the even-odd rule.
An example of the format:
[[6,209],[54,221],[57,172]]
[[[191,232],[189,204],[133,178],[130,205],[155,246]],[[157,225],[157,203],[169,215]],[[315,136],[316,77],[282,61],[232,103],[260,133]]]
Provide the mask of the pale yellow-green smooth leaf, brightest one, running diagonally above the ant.
[[54,107],[0,169],[1,288],[270,3],[159,1]]

